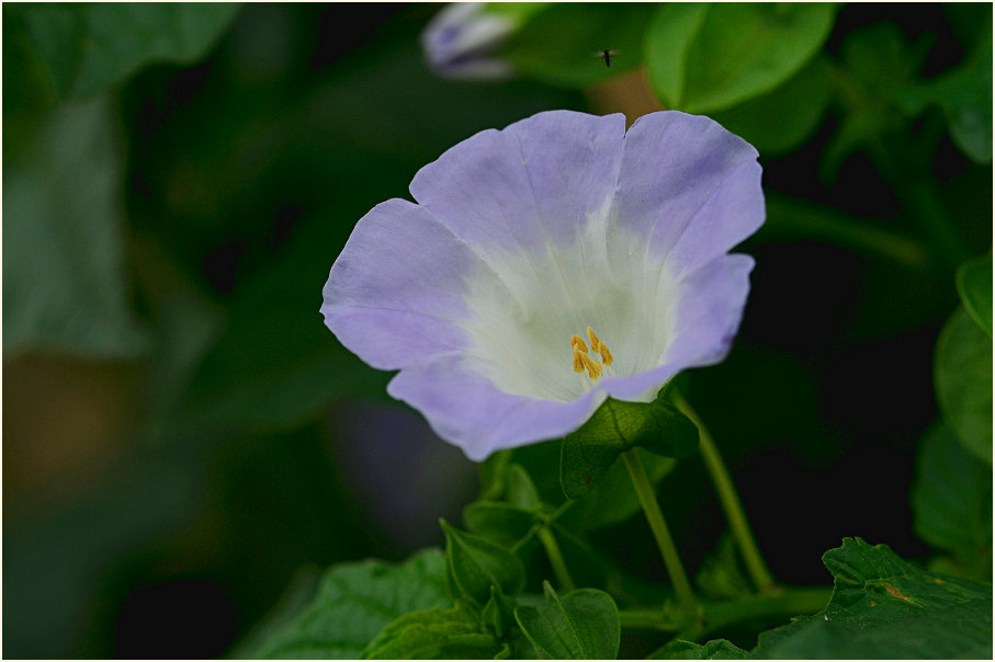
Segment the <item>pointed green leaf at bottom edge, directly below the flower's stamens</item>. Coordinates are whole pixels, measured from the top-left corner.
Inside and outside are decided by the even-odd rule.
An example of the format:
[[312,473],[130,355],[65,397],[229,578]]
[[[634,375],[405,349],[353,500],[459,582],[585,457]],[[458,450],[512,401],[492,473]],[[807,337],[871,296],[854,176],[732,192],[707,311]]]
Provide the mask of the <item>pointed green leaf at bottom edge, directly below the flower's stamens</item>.
[[545,604],[520,606],[515,618],[540,657],[550,660],[613,660],[619,654],[619,609],[608,593],[581,589],[561,600],[543,582]]

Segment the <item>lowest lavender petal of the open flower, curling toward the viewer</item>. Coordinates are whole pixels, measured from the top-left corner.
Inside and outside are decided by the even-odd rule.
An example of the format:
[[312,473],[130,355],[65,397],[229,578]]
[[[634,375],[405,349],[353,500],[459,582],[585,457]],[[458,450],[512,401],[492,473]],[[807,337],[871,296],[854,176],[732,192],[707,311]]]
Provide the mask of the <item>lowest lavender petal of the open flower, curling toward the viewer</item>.
[[599,390],[570,402],[506,393],[457,352],[408,365],[391,380],[387,392],[420,411],[436,434],[474,461],[496,450],[562,437],[587,421],[606,398]]

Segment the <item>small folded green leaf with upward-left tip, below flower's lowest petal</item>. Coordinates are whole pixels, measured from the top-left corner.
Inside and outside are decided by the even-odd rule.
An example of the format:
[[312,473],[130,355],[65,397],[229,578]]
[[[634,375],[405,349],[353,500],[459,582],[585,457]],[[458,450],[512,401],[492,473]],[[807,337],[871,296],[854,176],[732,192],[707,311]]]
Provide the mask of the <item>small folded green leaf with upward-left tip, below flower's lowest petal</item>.
[[521,593],[525,569],[513,553],[482,536],[463,533],[440,521],[445,533],[446,574],[453,597],[483,606],[490,598],[490,587],[507,595]]

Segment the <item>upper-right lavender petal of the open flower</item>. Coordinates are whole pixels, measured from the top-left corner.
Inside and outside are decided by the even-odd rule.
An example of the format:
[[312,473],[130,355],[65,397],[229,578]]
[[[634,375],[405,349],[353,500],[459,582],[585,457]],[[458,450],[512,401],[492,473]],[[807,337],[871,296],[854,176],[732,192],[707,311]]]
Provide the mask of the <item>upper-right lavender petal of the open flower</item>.
[[644,115],[625,134],[613,216],[646,239],[647,263],[678,277],[760,227],[760,173],[757,150],[713,119]]

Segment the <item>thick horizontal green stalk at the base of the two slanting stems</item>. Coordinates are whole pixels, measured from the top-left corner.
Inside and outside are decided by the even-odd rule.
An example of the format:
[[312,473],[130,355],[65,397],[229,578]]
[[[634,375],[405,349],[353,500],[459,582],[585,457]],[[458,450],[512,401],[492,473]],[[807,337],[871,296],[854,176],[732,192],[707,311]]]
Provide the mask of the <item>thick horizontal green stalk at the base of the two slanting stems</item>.
[[619,618],[626,629],[680,632],[681,639],[693,641],[742,620],[815,614],[825,608],[832,594],[830,586],[783,586],[761,595],[704,604],[699,623],[690,629],[682,629],[681,624],[662,616],[659,608],[622,609]]

